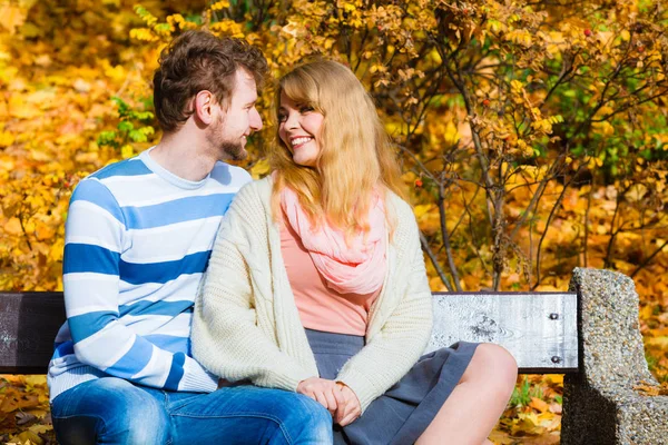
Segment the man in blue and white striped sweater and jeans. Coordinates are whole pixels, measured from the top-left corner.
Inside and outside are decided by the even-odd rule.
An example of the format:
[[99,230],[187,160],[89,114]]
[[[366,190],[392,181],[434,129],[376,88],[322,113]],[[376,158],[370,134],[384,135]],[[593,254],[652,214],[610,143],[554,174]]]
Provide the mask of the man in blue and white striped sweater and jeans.
[[262,128],[267,63],[238,39],[189,31],[160,57],[164,137],[75,190],[66,225],[67,322],[49,364],[61,444],[324,444],[332,418],[288,392],[227,386],[190,356],[194,299]]

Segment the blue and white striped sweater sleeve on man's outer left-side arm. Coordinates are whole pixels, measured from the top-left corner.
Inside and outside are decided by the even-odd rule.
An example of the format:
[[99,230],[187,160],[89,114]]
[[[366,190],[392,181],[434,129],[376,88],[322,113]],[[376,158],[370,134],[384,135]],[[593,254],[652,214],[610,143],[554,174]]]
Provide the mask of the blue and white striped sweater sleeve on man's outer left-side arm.
[[70,200],[65,305],[77,358],[111,376],[170,390],[212,392],[216,378],[191,357],[158,348],[119,322],[124,216],[109,189],[82,180]]

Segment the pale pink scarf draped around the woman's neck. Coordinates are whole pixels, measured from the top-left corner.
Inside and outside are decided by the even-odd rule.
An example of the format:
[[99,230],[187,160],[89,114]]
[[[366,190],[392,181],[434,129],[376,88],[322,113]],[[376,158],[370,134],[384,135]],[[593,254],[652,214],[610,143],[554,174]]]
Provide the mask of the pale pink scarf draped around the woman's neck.
[[345,243],[345,234],[326,222],[314,231],[297,194],[291,188],[283,189],[281,205],[327,287],[341,294],[366,295],[383,286],[387,271],[387,235],[385,209],[380,197],[369,212],[370,231],[355,235],[350,246]]

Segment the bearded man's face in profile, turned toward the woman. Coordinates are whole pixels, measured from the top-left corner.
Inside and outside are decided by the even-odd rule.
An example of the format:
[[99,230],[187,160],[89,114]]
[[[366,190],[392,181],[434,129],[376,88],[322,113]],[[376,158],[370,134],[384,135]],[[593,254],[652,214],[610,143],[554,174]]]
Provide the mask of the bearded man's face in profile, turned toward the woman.
[[257,86],[250,73],[238,69],[227,109],[218,109],[216,121],[207,128],[207,140],[218,159],[240,160],[248,156],[246,138],[262,129],[262,118],[255,108]]

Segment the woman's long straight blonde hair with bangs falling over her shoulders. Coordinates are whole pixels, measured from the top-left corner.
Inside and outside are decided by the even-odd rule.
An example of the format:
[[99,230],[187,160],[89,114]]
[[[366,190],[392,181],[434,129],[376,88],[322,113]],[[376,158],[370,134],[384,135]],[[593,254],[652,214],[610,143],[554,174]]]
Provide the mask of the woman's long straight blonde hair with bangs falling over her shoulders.
[[[367,215],[374,190],[392,190],[405,198],[395,154],[379,118],[373,100],[353,71],[322,60],[303,65],[285,75],[276,91],[276,111],[281,95],[324,116],[321,154],[315,168],[294,162],[291,150],[279,137],[268,152],[275,171],[273,212],[279,219],[279,192],[292,188],[311,222],[323,219],[353,235],[369,230]],[[380,188],[379,188],[380,186]]]

